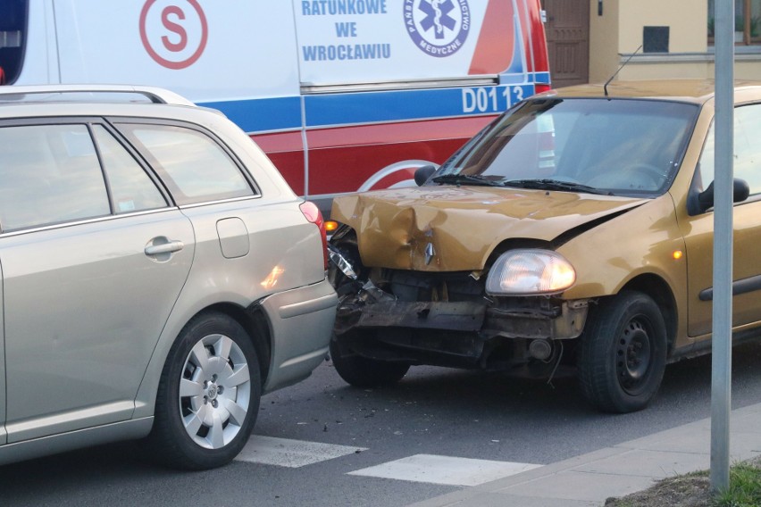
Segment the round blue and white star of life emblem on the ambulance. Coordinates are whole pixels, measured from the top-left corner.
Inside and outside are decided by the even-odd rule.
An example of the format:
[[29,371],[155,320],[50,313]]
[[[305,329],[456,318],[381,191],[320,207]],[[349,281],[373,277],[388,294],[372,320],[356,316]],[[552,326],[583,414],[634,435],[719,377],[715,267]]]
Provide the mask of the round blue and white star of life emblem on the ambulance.
[[468,37],[467,0],[405,0],[405,24],[414,45],[436,57],[455,54]]

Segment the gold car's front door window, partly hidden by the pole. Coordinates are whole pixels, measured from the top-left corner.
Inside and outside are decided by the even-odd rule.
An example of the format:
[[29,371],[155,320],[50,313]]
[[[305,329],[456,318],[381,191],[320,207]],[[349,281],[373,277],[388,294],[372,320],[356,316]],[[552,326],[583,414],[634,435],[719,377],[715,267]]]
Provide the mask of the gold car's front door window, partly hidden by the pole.
[[[714,180],[714,125],[708,131],[706,145],[700,154],[701,190]],[[743,105],[734,110],[734,177],[744,179],[750,195],[761,194],[761,104]]]

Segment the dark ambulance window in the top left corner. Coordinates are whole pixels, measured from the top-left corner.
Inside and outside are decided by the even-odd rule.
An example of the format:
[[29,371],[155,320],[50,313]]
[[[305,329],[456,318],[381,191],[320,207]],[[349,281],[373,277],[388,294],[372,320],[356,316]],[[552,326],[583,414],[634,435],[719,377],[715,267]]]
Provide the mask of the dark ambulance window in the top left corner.
[[19,77],[26,26],[27,0],[0,0],[0,85]]

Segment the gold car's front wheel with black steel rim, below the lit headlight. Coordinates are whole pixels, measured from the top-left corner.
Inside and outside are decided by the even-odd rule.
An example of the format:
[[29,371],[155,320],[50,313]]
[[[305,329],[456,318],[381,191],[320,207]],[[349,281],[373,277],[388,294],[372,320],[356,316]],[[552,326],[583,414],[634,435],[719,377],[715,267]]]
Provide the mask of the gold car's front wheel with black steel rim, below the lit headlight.
[[582,394],[600,411],[644,409],[664,376],[666,342],[663,314],[648,295],[626,291],[601,301],[581,336]]

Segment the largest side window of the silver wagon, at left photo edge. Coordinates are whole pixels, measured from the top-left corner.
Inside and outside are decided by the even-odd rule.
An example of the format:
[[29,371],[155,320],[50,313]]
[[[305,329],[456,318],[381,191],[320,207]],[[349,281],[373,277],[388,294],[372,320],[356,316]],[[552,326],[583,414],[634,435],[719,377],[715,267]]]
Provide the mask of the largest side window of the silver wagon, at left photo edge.
[[0,228],[26,229],[108,215],[85,125],[0,128]]

